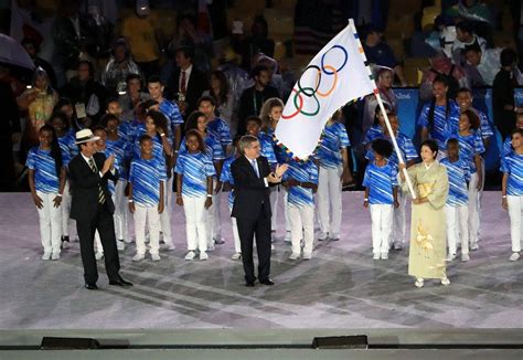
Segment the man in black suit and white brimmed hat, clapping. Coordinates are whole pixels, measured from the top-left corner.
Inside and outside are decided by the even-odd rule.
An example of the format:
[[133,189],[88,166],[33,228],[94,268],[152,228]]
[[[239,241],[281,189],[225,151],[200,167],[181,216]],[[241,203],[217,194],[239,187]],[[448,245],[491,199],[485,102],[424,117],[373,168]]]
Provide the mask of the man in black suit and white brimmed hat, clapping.
[[115,224],[113,214],[115,205],[107,189],[107,181],[117,181],[118,173],[114,168],[115,157],[96,152],[98,140],[89,129],[76,133],[76,145],[79,153],[70,162],[71,180],[71,219],[76,220],[79,237],[82,263],[84,264],[85,287],[95,290],[98,271],[94,251],[95,231],[98,230],[105,253],[105,268],[109,285],[131,286],[118,274],[120,261],[116,247]]

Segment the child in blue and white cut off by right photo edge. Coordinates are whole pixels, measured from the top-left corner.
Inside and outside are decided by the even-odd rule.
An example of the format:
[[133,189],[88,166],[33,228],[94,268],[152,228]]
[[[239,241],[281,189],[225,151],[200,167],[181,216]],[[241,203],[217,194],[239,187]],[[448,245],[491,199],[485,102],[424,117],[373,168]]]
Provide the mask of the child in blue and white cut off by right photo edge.
[[523,129],[512,131],[514,151],[501,162],[503,181],[501,183],[503,209],[509,210],[510,236],[512,240],[511,262],[520,258],[521,222],[523,214]]

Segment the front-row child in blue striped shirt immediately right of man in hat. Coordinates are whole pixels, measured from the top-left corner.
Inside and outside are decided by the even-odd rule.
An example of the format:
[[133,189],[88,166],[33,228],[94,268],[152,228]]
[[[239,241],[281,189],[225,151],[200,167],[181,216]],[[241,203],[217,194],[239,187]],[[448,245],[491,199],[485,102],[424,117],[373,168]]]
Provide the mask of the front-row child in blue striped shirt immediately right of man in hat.
[[129,211],[135,214],[136,255],[132,261],[146,257],[146,222],[149,230],[152,261],[160,261],[160,214],[164,207],[164,179],[159,159],[153,155],[149,135],[139,139],[141,156],[135,158],[129,171]]

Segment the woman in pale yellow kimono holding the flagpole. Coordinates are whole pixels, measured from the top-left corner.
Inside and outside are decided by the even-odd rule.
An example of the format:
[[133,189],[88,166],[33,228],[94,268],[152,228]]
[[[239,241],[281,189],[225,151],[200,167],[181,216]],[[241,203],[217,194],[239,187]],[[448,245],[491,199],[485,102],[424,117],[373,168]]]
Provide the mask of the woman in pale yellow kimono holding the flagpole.
[[[408,275],[416,278],[417,287],[424,286],[425,278],[437,278],[441,285],[449,285],[445,258],[446,221],[445,202],[448,194],[448,176],[444,166],[436,160],[438,145],[435,140],[421,144],[421,162],[408,169],[408,176],[416,191],[413,199],[410,225],[410,253]],[[405,174],[399,166],[402,188],[406,190]]]

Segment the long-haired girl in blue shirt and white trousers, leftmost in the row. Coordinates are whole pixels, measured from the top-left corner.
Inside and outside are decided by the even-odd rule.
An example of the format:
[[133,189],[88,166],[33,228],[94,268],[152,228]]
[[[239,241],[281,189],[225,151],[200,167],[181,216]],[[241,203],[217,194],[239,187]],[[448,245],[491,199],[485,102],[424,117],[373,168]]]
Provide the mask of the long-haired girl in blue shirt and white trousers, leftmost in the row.
[[62,235],[61,203],[65,186],[65,168],[54,128],[39,129],[40,145],[29,151],[29,188],[40,219],[42,260],[60,260]]

